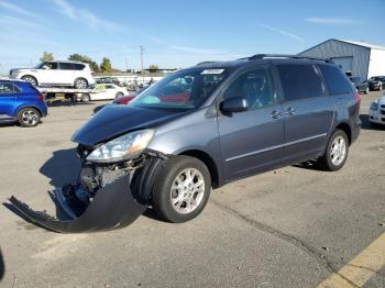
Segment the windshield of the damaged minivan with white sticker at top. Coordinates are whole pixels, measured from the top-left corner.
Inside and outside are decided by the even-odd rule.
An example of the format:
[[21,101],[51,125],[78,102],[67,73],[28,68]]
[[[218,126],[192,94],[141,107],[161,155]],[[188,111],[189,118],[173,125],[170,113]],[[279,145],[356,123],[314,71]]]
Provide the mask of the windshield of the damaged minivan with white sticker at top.
[[228,69],[182,70],[148,87],[131,106],[195,109],[208,99],[228,75]]

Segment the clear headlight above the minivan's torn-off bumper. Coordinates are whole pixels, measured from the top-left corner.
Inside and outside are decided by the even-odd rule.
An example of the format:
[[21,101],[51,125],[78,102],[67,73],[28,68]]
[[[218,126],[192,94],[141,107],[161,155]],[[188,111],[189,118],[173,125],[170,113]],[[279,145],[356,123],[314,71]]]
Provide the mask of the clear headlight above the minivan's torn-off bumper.
[[124,134],[92,151],[87,156],[87,159],[105,163],[123,160],[145,149],[153,139],[154,133],[154,130],[148,129]]

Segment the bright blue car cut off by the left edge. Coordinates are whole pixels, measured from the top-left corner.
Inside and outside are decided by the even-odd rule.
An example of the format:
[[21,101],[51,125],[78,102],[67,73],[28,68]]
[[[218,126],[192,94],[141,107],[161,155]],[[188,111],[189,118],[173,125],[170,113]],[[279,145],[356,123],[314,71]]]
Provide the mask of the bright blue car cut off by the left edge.
[[0,79],[0,122],[36,126],[47,110],[43,95],[30,82]]

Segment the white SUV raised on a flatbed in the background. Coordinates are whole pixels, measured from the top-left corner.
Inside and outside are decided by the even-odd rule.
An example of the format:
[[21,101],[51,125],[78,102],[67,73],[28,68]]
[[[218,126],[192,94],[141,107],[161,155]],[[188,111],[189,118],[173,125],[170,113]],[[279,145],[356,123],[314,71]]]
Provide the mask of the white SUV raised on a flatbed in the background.
[[10,70],[10,78],[18,78],[40,87],[94,88],[96,85],[88,64],[69,60],[43,62],[35,68],[15,68]]

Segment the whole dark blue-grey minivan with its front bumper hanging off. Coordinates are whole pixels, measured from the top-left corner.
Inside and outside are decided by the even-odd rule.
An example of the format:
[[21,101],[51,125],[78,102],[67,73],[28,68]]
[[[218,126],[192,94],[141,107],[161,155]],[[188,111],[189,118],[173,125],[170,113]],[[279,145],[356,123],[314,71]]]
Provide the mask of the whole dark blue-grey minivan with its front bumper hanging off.
[[32,222],[66,233],[121,228],[146,208],[186,222],[211,188],[230,181],[309,159],[341,169],[360,134],[360,103],[328,59],[260,54],[199,64],[128,106],[107,106],[76,131],[78,181],[55,190],[72,221],[10,201]]

